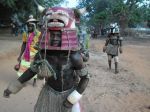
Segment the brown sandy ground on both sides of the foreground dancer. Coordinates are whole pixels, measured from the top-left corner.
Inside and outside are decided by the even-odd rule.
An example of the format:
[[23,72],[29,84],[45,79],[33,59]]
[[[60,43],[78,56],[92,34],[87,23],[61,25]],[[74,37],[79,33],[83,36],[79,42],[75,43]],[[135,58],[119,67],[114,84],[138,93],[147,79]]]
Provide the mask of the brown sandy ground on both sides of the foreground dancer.
[[[32,87],[32,80],[18,94],[3,98],[8,83],[17,78],[13,66],[21,42],[0,40],[0,112],[33,112],[43,81]],[[84,92],[84,112],[150,112],[150,44],[124,42],[119,74],[108,70],[104,40],[91,40],[88,62],[90,82]],[[7,48],[7,49],[6,49]]]

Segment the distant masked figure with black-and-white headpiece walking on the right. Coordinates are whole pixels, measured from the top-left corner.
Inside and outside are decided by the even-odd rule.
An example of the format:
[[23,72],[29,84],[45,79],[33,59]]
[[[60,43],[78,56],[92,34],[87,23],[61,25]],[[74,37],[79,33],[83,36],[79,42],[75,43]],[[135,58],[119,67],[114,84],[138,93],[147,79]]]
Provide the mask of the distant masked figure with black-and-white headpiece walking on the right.
[[118,73],[118,62],[119,62],[119,52],[122,53],[122,40],[123,38],[119,35],[119,27],[117,24],[110,25],[110,32],[106,39],[105,46],[103,47],[103,52],[106,52],[108,55],[108,65],[111,69],[112,59],[114,58],[115,62],[115,73]]

